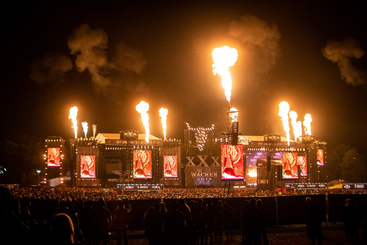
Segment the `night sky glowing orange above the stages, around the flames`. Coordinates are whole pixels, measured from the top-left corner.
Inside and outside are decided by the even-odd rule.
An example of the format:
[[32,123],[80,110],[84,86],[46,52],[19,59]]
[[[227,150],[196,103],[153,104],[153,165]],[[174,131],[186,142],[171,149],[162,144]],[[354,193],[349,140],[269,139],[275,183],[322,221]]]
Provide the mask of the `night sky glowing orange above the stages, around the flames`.
[[[52,2],[52,3],[51,3]],[[97,132],[183,139],[185,122],[226,131],[214,48],[238,50],[230,68],[240,133],[285,136],[285,100],[312,134],[367,147],[367,15],[362,1],[54,1],[3,9],[1,138],[73,137],[69,109]],[[15,4],[15,3],[12,3]],[[18,4],[18,3],[17,3]],[[327,54],[323,55],[326,47]],[[91,128],[88,136],[91,136]]]

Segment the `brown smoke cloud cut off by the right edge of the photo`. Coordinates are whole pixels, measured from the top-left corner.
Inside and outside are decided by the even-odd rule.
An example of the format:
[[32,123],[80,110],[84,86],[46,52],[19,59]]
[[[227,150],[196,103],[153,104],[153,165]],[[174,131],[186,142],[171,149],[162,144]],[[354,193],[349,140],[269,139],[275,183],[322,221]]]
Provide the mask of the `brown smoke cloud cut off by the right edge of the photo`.
[[337,63],[340,76],[346,83],[353,86],[366,83],[366,74],[358,71],[351,62],[352,58],[360,59],[364,55],[356,39],[346,37],[341,42],[330,40],[322,49],[322,54],[328,60]]

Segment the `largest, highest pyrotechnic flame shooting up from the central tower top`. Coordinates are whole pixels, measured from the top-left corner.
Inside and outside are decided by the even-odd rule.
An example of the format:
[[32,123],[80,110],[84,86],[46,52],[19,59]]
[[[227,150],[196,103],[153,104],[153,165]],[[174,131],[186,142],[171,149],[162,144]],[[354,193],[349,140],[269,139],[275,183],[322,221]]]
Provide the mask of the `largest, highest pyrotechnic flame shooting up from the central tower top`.
[[224,94],[227,101],[230,102],[231,89],[232,89],[232,78],[228,68],[235,65],[237,61],[238,53],[235,48],[224,46],[221,48],[214,48],[211,53],[214,64],[213,73],[219,75],[222,78],[222,86],[224,88]]

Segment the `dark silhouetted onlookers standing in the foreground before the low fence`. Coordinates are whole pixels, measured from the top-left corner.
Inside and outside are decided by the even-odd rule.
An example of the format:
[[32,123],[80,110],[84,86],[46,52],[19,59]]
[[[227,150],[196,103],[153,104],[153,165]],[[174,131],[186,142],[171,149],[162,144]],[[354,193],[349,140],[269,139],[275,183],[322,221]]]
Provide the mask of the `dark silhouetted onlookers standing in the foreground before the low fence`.
[[[122,240],[124,244],[128,243],[128,216],[131,210],[128,199],[117,202],[113,210],[106,208],[102,198],[97,202],[77,199],[63,207],[57,204],[51,223],[43,225],[34,219],[32,209],[27,205],[21,206],[19,199],[14,198],[12,193],[22,193],[29,197],[25,192],[10,192],[0,187],[1,241],[11,239],[13,244],[108,244],[113,232],[118,245]],[[241,222],[241,244],[268,244],[268,212],[262,206],[261,198],[243,200],[239,213],[235,213],[225,200],[214,202],[214,199],[206,199],[204,202],[201,198],[190,199],[161,200],[146,211],[141,221],[136,221],[144,223],[149,244],[202,245],[214,244],[214,241],[224,238],[231,240],[233,224],[238,217]],[[316,244],[316,241],[321,244],[323,233],[320,209],[310,197],[306,198],[304,204],[301,213],[305,217],[305,232],[312,244]],[[359,213],[354,200],[347,199],[344,206],[345,237],[351,244],[358,244],[358,220]]]

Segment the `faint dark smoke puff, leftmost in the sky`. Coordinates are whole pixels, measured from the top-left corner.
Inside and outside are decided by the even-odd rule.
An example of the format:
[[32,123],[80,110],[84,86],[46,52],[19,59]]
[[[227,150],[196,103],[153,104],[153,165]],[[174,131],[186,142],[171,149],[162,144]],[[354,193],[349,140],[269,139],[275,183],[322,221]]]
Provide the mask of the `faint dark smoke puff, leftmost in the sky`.
[[48,53],[32,62],[29,78],[40,84],[61,83],[65,81],[65,73],[72,68],[73,62],[65,55]]

